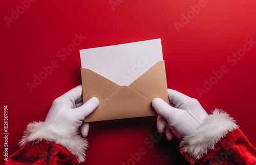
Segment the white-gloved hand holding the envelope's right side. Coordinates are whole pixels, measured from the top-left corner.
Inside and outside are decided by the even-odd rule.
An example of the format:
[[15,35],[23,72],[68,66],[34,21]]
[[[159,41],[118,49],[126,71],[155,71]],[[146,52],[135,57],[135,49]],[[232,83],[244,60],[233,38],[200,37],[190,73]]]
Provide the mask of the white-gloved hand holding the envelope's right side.
[[208,116],[199,101],[178,91],[168,89],[170,106],[160,98],[155,98],[153,107],[159,114],[157,129],[161,133],[165,130],[167,140],[174,135],[179,140],[193,133]]

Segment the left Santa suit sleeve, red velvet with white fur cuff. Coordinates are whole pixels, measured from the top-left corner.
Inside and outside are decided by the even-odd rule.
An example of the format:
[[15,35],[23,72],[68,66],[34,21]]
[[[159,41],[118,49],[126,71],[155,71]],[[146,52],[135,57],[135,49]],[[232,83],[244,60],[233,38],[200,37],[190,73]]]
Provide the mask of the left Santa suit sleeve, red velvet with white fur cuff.
[[5,164],[79,164],[88,142],[74,129],[55,122],[28,124],[20,149]]

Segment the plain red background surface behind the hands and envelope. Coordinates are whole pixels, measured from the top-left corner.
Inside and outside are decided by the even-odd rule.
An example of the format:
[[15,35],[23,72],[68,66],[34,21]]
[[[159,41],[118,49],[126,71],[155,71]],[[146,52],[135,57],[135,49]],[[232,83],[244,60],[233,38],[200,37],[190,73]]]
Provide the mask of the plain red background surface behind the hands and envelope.
[[[4,17],[11,18],[20,2],[1,1],[1,106],[9,109],[9,155],[29,122],[44,120],[56,97],[81,84],[79,49],[155,38],[162,39],[168,88],[197,98],[208,113],[223,108],[255,146],[256,44],[234,66],[227,57],[243,48],[245,39],[256,41],[256,2],[207,0],[178,32],[174,22],[181,23],[181,14],[198,3],[119,0],[113,10],[109,0],[35,1],[8,28]],[[87,39],[61,61],[56,53],[80,33]],[[59,66],[30,93],[27,82],[33,83],[33,75],[53,60]],[[204,88],[204,79],[223,65],[229,71],[200,97],[197,88]],[[2,132],[3,118],[2,111]],[[91,123],[84,164],[121,164],[141,147],[146,154],[135,164],[184,162],[177,140],[163,137],[152,148],[144,143],[155,134],[155,123],[156,117]],[[3,140],[0,146],[3,154]]]

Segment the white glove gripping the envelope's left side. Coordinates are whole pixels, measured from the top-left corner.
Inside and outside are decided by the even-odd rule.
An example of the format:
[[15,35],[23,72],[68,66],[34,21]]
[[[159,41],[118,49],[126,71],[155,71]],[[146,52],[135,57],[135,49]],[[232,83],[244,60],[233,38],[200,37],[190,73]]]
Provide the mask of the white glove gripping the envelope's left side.
[[89,123],[84,123],[83,120],[98,105],[99,100],[96,97],[92,97],[83,104],[82,86],[79,85],[53,101],[45,122],[61,123],[75,130],[78,130],[81,126],[81,134],[86,137],[89,131]]

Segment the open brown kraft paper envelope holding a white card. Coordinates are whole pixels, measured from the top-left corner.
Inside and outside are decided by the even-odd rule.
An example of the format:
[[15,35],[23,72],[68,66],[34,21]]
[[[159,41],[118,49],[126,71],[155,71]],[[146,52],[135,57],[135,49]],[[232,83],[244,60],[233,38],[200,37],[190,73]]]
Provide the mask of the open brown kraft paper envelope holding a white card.
[[156,63],[129,86],[119,86],[90,69],[81,68],[83,102],[91,97],[100,101],[85,122],[156,115],[152,100],[169,103],[164,61]]

